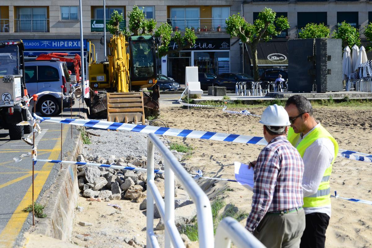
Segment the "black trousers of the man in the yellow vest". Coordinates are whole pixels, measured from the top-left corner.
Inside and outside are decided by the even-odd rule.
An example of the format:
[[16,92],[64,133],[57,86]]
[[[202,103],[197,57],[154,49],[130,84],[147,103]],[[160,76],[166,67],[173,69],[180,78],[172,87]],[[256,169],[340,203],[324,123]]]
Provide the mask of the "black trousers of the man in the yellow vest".
[[309,213],[305,215],[305,220],[306,227],[301,237],[300,248],[324,248],[329,216],[325,213]]

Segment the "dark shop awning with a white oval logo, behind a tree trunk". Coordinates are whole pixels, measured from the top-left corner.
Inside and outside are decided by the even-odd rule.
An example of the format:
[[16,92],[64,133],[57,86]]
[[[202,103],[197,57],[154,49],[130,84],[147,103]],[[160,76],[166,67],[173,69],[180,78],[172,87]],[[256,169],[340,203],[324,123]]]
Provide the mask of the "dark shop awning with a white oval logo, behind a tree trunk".
[[[252,64],[252,52],[246,46]],[[259,42],[257,45],[257,59],[259,66],[288,65],[288,46],[286,41]]]

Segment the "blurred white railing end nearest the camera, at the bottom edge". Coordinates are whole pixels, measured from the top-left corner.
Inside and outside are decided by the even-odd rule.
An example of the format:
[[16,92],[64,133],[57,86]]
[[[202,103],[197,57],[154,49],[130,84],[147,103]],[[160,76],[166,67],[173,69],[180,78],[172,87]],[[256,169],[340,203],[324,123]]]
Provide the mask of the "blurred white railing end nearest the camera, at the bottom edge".
[[231,217],[225,217],[217,227],[215,248],[230,248],[230,243],[241,248],[265,248],[252,233],[248,232],[239,222]]

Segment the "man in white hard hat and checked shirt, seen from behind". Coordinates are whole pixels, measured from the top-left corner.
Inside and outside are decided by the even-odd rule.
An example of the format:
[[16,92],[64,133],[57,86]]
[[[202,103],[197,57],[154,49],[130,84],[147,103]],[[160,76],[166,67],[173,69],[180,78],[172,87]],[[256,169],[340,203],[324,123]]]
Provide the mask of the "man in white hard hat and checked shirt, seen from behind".
[[286,138],[291,123],[282,106],[267,107],[260,123],[268,144],[251,164],[254,187],[246,229],[268,248],[298,248],[305,229],[304,162]]

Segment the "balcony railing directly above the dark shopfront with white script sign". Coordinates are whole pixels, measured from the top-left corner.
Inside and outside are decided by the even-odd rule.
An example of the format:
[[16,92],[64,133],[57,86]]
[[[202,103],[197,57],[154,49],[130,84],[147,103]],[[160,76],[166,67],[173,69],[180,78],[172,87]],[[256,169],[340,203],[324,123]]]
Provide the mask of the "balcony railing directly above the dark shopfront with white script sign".
[[173,31],[185,31],[186,28],[194,28],[195,31],[224,31],[226,29],[225,18],[168,18],[167,22]]

